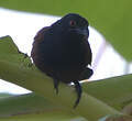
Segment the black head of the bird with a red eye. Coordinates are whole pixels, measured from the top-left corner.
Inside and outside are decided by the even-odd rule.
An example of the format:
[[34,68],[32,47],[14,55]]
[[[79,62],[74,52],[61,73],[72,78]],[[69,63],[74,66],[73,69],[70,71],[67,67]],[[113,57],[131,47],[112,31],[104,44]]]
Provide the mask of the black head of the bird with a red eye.
[[85,37],[89,36],[88,21],[79,14],[69,13],[63,16],[53,25],[58,26],[63,32],[78,34]]

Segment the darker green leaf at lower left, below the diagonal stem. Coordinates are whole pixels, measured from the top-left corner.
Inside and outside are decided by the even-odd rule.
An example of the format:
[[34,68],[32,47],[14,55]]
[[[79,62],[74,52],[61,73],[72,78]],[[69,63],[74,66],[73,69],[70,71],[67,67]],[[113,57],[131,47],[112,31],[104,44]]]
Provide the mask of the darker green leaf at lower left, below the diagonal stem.
[[12,117],[45,111],[52,112],[53,110],[66,111],[65,108],[58,105],[53,105],[44,97],[37,96],[33,92],[20,96],[9,95],[9,97],[2,96],[2,98],[0,98],[0,117]]

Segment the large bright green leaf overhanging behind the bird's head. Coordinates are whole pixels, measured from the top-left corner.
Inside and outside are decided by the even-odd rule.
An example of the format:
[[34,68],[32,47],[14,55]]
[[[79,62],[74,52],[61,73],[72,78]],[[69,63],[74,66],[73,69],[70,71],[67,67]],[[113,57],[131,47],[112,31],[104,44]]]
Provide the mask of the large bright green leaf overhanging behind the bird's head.
[[132,61],[131,0],[1,0],[0,7],[21,11],[64,15],[76,12],[89,20],[114,48]]

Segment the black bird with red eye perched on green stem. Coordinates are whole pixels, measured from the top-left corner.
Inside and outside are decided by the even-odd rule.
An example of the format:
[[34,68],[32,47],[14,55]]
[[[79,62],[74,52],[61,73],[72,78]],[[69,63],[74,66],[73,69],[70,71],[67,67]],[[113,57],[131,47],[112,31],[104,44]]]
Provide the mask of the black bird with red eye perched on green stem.
[[59,82],[74,82],[77,92],[76,108],[81,98],[80,80],[88,79],[94,70],[92,53],[88,42],[88,21],[78,13],[68,13],[50,26],[41,29],[33,42],[31,57],[35,66],[54,80],[58,94]]

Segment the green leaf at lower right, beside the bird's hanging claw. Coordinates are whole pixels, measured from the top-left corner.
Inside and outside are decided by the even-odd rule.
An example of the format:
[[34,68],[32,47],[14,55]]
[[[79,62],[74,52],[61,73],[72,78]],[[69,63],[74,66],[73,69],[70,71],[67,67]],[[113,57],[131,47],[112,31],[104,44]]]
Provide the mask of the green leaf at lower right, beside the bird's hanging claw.
[[132,102],[132,75],[82,82],[82,88],[85,92],[120,111]]

